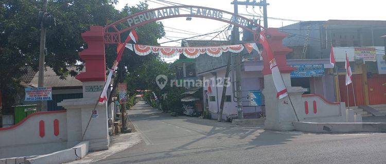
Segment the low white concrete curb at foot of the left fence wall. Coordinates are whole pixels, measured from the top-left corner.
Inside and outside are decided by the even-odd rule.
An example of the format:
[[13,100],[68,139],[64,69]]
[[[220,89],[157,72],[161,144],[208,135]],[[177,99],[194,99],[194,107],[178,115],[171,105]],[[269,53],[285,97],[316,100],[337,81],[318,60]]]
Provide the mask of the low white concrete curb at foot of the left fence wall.
[[83,158],[89,152],[89,141],[80,142],[73,148],[26,159],[25,163],[63,163]]

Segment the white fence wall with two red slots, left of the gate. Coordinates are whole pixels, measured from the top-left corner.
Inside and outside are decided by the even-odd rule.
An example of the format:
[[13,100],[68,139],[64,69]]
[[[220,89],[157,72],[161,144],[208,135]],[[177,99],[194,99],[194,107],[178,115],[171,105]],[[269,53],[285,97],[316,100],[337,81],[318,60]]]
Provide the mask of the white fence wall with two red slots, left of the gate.
[[0,128],[0,158],[51,153],[67,148],[66,111],[37,112]]

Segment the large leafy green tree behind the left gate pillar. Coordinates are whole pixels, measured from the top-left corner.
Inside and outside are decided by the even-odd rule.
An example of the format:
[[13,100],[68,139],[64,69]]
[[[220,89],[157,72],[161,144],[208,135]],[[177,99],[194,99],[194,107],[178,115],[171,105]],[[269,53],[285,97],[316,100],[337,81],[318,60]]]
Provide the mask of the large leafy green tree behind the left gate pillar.
[[[126,6],[121,11],[114,8],[117,0],[51,0],[47,12],[56,17],[57,25],[47,30],[46,66],[65,78],[76,75],[67,70],[68,65],[75,66],[81,59],[78,52],[86,48],[81,33],[90,26],[105,26],[127,15],[147,10],[146,3]],[[41,1],[5,0],[0,1],[0,89],[6,108],[13,105],[13,95],[18,89],[19,79],[25,73],[23,66],[38,69],[39,39],[38,12]],[[139,43],[157,45],[157,39],[165,35],[161,23],[150,23],[137,28]],[[126,34],[127,36],[127,34]],[[126,36],[122,36],[125,39]],[[106,47],[106,61],[111,67],[116,57],[116,45]],[[140,66],[144,61],[155,56],[133,55],[128,50],[122,57],[125,72]],[[78,70],[83,69],[77,65]]]

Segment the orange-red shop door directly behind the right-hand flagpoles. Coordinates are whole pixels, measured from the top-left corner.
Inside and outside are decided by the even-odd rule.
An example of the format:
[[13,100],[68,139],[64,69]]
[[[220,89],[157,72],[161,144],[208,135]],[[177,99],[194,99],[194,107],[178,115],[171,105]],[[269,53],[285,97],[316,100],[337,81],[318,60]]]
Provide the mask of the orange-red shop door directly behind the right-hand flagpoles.
[[[353,75],[353,83],[354,83],[354,91],[355,91],[355,100],[357,106],[364,105],[364,95],[362,90],[362,75],[361,74],[355,74]],[[355,106],[354,103],[354,93],[353,93],[353,85],[348,85],[348,100],[349,100],[349,106],[353,107]],[[339,75],[339,90],[340,90],[340,97],[341,101],[346,103],[347,105],[347,87],[346,87],[346,75]]]

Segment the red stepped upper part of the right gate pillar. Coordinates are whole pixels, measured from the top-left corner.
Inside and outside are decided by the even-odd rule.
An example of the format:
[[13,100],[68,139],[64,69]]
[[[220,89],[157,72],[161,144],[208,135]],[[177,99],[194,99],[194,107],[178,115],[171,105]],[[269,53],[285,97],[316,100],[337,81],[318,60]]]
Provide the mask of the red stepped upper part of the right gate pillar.
[[[283,39],[288,34],[280,32],[276,28],[268,28],[266,34],[280,73],[291,73],[293,68],[291,66],[287,66],[286,55],[292,52],[292,49],[283,45]],[[264,60],[264,69],[262,69],[262,73],[264,75],[271,74],[269,61],[265,52],[263,53],[262,58]]]

